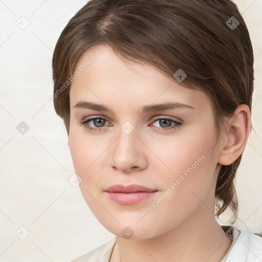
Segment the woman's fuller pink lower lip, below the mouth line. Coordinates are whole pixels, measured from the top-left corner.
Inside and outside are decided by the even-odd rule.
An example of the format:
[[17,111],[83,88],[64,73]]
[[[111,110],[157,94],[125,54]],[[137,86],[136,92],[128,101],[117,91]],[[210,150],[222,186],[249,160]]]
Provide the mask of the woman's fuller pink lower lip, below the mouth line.
[[143,200],[146,200],[157,191],[154,192],[132,192],[132,193],[122,193],[122,192],[107,192],[108,197],[121,205],[134,205]]

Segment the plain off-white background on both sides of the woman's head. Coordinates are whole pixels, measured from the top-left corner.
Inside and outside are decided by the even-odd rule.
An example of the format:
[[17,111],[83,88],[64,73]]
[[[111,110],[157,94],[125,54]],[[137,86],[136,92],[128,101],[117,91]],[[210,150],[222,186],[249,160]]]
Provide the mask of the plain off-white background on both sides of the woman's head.
[[[253,43],[256,132],[252,131],[237,173],[235,226],[262,232],[262,1],[234,2]],[[71,261],[114,237],[72,185],[67,132],[48,101],[56,41],[85,3],[0,0],[0,261]],[[25,128],[25,134],[19,128]],[[227,223],[228,215],[221,220]]]

